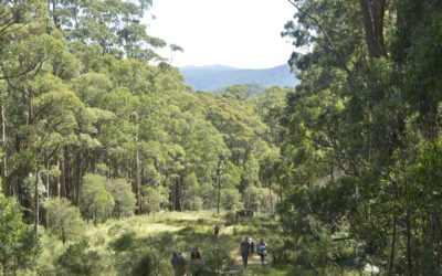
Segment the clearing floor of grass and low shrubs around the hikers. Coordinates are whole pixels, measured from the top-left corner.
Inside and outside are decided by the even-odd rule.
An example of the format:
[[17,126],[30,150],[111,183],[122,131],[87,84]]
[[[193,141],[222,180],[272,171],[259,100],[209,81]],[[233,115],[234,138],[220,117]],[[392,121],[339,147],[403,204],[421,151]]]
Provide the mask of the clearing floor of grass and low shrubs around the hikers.
[[[215,224],[221,226],[217,238]],[[244,236],[256,243],[261,238],[266,242],[269,255],[264,266],[254,254],[248,268],[243,268],[239,246]],[[42,251],[35,267],[23,275],[169,276],[173,275],[171,253],[181,252],[189,261],[193,247],[199,248],[206,262],[208,272],[203,275],[288,275],[286,265],[273,265],[273,248],[283,245],[282,229],[277,221],[262,214],[238,219],[225,213],[217,216],[210,211],[161,212],[155,217],[140,215],[97,225],[90,223],[65,244],[42,231],[40,241]],[[87,242],[87,246],[80,246],[82,242]]]

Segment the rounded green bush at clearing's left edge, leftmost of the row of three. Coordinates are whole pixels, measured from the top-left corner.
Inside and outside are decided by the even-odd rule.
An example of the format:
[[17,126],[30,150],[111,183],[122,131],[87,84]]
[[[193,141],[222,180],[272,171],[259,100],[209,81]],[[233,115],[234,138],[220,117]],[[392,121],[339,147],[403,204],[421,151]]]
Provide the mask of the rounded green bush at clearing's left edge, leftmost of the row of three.
[[[84,230],[84,222],[80,210],[66,199],[51,199],[43,203],[46,210],[49,233],[55,235],[63,243],[78,236]],[[61,212],[63,210],[63,212]]]

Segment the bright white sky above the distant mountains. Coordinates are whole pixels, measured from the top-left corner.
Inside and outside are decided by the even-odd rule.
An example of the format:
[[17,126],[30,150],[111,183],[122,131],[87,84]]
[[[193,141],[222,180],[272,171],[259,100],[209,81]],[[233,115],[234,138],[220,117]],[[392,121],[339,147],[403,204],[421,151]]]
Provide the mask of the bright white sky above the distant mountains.
[[183,47],[176,66],[272,67],[292,53],[281,32],[294,12],[286,0],[154,0],[148,33]]

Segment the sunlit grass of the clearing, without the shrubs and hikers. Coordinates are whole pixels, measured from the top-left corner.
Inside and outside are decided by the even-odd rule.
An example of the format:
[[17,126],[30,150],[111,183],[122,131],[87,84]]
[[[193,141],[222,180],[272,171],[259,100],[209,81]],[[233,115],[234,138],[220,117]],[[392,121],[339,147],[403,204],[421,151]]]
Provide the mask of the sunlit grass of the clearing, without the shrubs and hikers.
[[[218,238],[213,236],[215,224],[221,225]],[[243,270],[239,255],[239,244],[244,235],[252,236],[256,241],[263,237],[271,247],[272,241],[278,240],[278,233],[277,224],[264,216],[236,220],[225,214],[217,216],[209,211],[162,212],[155,219],[151,215],[140,215],[108,220],[98,225],[87,224],[80,236],[66,244],[42,232],[42,254],[36,263],[38,269],[33,274],[60,275],[57,264],[60,256],[70,245],[85,240],[88,242],[90,251],[96,252],[99,256],[102,272],[98,275],[122,275],[122,267],[127,268],[123,275],[129,275],[139,255],[154,247],[159,252],[156,257],[166,266],[164,275],[169,275],[171,272],[169,258],[172,251],[180,251],[186,258],[189,258],[192,247],[198,247],[203,258],[210,258],[214,248],[227,252],[233,262],[231,275],[285,275],[284,268],[271,267],[271,256],[267,257],[269,264],[265,267],[261,266],[260,259],[255,256],[251,259],[250,267]],[[133,243],[128,248],[115,250],[116,241],[118,242],[124,235],[128,236],[128,243],[130,241]],[[118,246],[124,247],[124,243],[123,240]],[[28,272],[25,275],[32,273]]]

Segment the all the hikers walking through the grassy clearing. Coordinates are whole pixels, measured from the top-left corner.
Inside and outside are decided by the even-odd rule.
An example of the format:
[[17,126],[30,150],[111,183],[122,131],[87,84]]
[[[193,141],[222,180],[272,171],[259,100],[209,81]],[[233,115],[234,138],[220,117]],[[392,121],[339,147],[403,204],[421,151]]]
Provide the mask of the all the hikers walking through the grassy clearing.
[[[220,226],[217,224],[213,229],[213,234],[218,237],[220,232]],[[253,254],[256,253],[261,257],[261,264],[264,265],[265,256],[267,255],[267,245],[263,238],[261,238],[260,243],[256,244],[250,236],[244,236],[240,243],[240,254],[242,257],[242,262],[244,268],[248,267],[249,259],[253,257]],[[193,247],[190,252],[190,262],[187,264],[186,258],[182,256],[180,252],[173,252],[170,264],[173,267],[175,276],[183,276],[183,275],[207,275],[207,270],[204,267],[204,261],[201,257],[201,254],[197,247]]]

